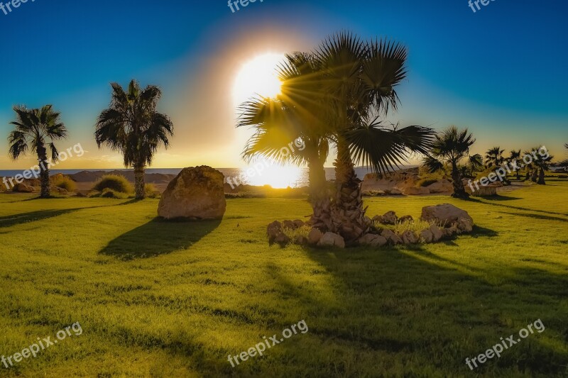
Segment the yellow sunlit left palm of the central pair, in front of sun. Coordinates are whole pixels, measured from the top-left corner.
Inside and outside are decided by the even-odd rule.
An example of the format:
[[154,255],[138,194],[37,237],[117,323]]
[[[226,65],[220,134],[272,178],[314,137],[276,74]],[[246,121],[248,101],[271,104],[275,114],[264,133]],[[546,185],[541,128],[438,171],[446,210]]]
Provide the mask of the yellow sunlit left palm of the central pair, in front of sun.
[[[249,126],[255,130],[243,157],[251,161],[263,156],[280,163],[307,165],[312,226],[332,230],[332,203],[324,170],[329,153],[329,132],[322,122],[324,90],[318,62],[312,54],[295,52],[286,55],[277,71],[282,81],[278,99],[257,98],[240,107],[237,127]],[[302,140],[305,148],[281,153],[297,138]]]

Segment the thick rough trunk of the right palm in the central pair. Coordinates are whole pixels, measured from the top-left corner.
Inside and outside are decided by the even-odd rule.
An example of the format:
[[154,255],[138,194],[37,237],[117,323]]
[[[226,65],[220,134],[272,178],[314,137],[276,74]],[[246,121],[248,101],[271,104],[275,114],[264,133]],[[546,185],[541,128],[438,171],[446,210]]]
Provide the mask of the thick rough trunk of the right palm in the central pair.
[[334,232],[346,242],[357,240],[368,231],[370,223],[365,220],[361,180],[356,177],[349,145],[343,138],[337,140],[337,160],[334,162],[336,193],[334,206]]

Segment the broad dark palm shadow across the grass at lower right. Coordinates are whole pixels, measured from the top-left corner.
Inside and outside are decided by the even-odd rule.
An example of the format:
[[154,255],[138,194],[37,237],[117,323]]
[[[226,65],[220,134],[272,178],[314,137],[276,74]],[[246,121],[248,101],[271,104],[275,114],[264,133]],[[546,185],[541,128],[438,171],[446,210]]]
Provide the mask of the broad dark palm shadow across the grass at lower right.
[[[480,269],[459,255],[454,262],[423,248],[305,252],[337,281],[334,296],[342,308],[306,298],[307,304],[317,306],[312,307],[310,334],[328,343],[340,340],[362,350],[381,350],[393,358],[413,356],[417,362],[408,368],[417,371],[429,363],[428,355],[439,356],[434,369],[440,376],[462,376],[469,373],[465,357],[479,355],[494,338],[506,337],[542,318],[545,333],[530,335],[476,372],[498,376],[520,370],[551,377],[565,372],[568,354],[550,340],[568,340],[568,316],[558,308],[568,295],[566,275],[533,267]],[[294,294],[306,295],[298,290]],[[327,326],[336,318],[349,321],[344,324],[346,329]],[[368,326],[371,319],[376,326]],[[380,370],[376,374],[391,375]]]

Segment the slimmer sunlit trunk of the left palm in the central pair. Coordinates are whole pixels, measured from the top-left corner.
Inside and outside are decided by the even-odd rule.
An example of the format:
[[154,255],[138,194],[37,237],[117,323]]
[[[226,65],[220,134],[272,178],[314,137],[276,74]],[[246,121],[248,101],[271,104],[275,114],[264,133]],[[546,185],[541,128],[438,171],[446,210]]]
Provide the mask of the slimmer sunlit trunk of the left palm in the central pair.
[[332,201],[327,188],[325,169],[320,159],[311,157],[307,164],[310,177],[310,204],[313,214],[310,223],[312,227],[322,232],[333,230]]

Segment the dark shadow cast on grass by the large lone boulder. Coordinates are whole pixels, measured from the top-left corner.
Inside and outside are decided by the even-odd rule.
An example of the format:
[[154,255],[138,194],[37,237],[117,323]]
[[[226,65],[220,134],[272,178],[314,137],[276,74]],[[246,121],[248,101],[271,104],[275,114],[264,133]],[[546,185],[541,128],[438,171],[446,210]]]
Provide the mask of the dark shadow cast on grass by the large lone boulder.
[[111,240],[99,253],[125,261],[164,255],[189,248],[219,227],[220,223],[220,220],[165,221],[163,218],[156,217]]

